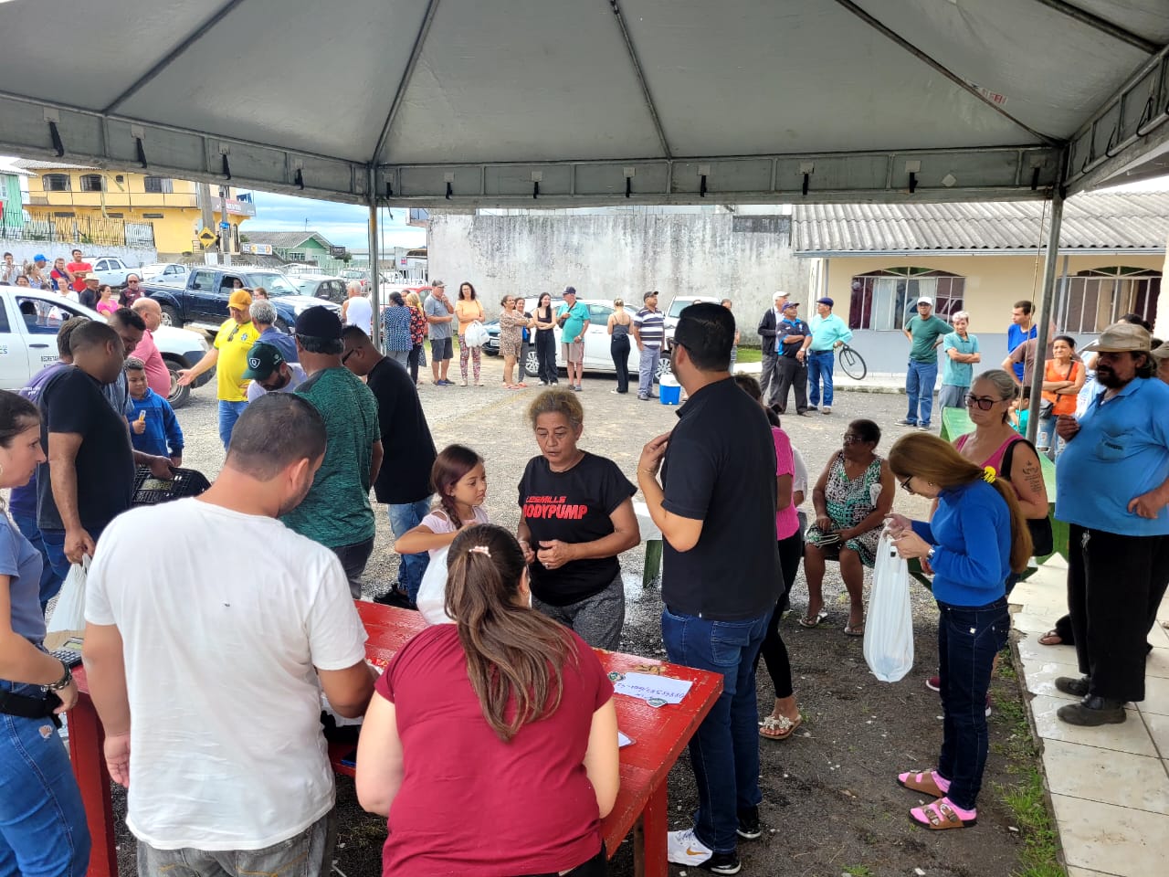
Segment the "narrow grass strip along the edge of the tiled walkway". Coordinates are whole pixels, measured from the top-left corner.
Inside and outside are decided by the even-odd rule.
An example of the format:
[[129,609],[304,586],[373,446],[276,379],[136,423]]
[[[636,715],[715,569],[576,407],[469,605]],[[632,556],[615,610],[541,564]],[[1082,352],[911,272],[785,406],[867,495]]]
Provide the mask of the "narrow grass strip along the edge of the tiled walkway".
[[[1004,651],[998,663],[998,678],[1017,684],[1010,651]],[[1016,689],[1017,691],[1017,689]],[[1010,733],[1008,740],[996,746],[1007,759],[1007,772],[1017,776],[1012,785],[995,783],[995,790],[1015,817],[1015,826],[1023,841],[1019,864],[1011,877],[1066,877],[1059,864],[1059,837],[1056,823],[1047,810],[1047,799],[1043,787],[1039,752],[1031,739],[1026,705],[1022,697],[995,702],[996,720]]]

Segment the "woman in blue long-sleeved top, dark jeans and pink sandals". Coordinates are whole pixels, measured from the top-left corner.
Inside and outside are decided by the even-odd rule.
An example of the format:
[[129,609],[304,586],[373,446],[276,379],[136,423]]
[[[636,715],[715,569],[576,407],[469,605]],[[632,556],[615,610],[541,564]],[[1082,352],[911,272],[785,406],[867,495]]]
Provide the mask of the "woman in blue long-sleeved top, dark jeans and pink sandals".
[[987,764],[987,689],[995,655],[1007,644],[1007,576],[1026,568],[1031,533],[1010,482],[995,478],[933,435],[902,436],[888,465],[909,493],[938,499],[932,520],[890,515],[902,558],[934,572],[942,748],[933,771],[898,775],[908,789],[936,800],[909,810],[924,828],[966,828]]

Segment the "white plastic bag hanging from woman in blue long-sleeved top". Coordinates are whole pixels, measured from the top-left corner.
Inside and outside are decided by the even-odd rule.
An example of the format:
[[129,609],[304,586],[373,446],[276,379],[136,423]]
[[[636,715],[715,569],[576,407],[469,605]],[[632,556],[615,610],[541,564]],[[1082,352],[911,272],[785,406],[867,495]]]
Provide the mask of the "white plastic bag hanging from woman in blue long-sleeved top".
[[887,532],[877,543],[864,651],[865,663],[881,682],[898,682],[913,669],[909,567],[897,555]]

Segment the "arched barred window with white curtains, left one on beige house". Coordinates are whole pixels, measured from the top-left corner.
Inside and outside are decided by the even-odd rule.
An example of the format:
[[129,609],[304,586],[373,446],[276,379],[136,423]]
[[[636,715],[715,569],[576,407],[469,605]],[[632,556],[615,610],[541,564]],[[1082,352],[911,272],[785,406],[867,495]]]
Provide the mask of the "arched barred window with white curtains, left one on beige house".
[[948,320],[962,310],[966,278],[929,268],[888,268],[852,278],[850,329],[899,331],[916,313],[918,299],[934,299],[934,313]]

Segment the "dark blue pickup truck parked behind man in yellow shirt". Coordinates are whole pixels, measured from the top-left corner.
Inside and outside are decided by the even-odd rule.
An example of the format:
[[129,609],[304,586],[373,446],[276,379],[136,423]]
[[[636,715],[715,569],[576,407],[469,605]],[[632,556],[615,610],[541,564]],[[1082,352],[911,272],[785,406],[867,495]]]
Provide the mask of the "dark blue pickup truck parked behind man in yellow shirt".
[[279,271],[262,268],[195,267],[185,286],[146,284],[146,295],[162,309],[162,324],[182,327],[194,325],[215,330],[228,318],[227,299],[238,278],[248,289],[263,286],[276,308],[276,325],[289,332],[297,315],[314,305],[323,305],[340,313],[340,305],[302,295],[292,282]]

